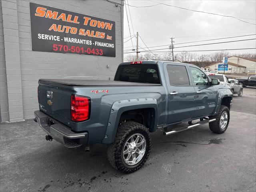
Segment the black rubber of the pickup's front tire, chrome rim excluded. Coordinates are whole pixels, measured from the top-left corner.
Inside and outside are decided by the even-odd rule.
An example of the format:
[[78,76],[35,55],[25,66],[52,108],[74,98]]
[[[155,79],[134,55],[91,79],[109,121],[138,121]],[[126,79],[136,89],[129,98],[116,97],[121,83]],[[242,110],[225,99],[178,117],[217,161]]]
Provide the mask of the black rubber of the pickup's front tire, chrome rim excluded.
[[[222,115],[222,113],[224,111],[226,111],[228,113],[228,122],[227,122],[225,128],[222,129],[222,128],[220,128],[220,116]],[[229,124],[229,120],[230,120],[230,112],[229,112],[228,107],[224,106],[224,105],[220,106],[218,114],[214,115],[214,116],[211,116],[210,118],[211,119],[214,119],[214,118],[216,119],[215,121],[209,123],[210,130],[212,132],[218,133],[218,134],[224,133],[227,130],[227,128],[228,128],[228,124]]]

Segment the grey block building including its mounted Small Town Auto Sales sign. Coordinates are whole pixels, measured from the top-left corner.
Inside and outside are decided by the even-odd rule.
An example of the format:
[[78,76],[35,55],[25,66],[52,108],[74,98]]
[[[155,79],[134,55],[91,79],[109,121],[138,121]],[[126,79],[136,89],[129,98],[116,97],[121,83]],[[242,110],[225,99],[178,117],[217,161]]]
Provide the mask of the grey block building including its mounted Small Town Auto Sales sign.
[[123,0],[1,0],[0,122],[33,118],[40,78],[109,80],[123,60]]

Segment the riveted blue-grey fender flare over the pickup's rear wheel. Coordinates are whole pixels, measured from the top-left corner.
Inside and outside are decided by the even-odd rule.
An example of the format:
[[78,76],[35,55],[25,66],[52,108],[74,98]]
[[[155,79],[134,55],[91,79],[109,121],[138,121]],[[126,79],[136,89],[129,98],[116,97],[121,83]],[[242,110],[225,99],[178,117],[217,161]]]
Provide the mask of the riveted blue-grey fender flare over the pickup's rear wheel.
[[142,108],[153,108],[155,111],[155,116],[153,119],[153,130],[156,130],[158,124],[158,106],[157,100],[154,98],[137,98],[137,99],[126,99],[119,100],[113,103],[110,116],[108,118],[108,125],[106,128],[105,137],[102,140],[102,144],[111,144],[114,142],[116,137],[116,132],[119,126],[119,120],[123,112]]

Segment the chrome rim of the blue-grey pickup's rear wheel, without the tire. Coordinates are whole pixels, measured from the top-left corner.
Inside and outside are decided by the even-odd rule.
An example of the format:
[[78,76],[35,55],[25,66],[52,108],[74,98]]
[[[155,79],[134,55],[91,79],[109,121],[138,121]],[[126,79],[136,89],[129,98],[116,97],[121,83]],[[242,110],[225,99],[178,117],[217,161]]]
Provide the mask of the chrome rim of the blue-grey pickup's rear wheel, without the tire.
[[140,134],[136,133],[130,136],[123,148],[123,159],[128,165],[135,165],[142,160],[146,152],[146,139]]

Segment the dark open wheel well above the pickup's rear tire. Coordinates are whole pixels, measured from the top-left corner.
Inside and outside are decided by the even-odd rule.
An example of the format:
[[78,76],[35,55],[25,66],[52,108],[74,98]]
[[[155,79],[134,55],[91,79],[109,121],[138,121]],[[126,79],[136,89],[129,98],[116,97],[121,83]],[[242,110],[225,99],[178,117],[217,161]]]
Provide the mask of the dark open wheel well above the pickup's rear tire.
[[155,110],[154,108],[142,108],[125,111],[120,116],[119,123],[124,121],[133,120],[143,124],[150,132],[154,130],[155,123]]

